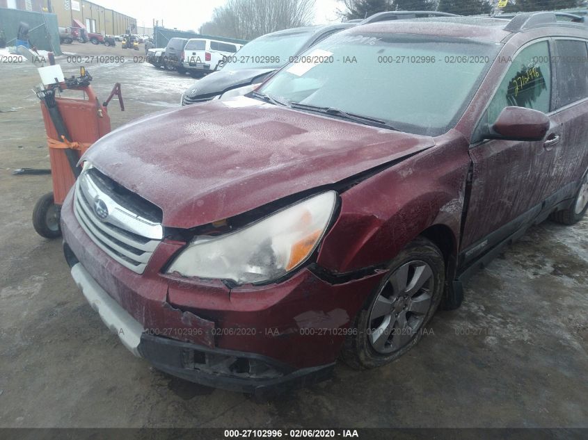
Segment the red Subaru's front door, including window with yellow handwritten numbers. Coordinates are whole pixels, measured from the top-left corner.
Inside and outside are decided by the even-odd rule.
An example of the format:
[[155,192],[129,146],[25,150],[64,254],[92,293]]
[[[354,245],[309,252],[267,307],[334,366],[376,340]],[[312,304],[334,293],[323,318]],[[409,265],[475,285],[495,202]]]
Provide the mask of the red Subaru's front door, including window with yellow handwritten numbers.
[[[491,126],[507,106],[549,113],[552,87],[548,40],[527,45],[511,60],[476,132]],[[480,136],[479,142],[471,145],[462,263],[483,254],[541,212],[541,204],[553,188],[546,173],[550,174],[555,165],[555,145],[561,129],[553,121],[543,141],[483,140]]]

